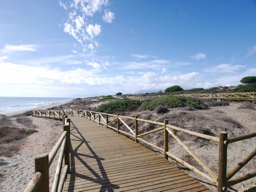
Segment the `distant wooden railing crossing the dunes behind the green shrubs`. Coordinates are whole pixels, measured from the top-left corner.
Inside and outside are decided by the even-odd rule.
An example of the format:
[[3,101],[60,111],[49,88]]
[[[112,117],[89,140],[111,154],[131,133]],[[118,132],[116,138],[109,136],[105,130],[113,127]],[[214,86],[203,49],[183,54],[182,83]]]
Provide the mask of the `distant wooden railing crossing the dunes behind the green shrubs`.
[[[234,93],[183,93],[177,96],[198,97],[200,99],[214,99],[227,101],[256,101],[255,92],[234,92]],[[131,100],[145,100],[154,96],[127,96]]]

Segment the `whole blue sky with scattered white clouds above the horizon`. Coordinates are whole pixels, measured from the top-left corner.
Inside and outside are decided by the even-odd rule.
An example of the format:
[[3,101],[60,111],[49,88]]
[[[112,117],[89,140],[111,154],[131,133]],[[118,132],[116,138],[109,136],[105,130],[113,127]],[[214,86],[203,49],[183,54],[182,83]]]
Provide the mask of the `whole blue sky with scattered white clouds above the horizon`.
[[256,75],[256,1],[1,1],[0,70],[0,96],[238,85]]

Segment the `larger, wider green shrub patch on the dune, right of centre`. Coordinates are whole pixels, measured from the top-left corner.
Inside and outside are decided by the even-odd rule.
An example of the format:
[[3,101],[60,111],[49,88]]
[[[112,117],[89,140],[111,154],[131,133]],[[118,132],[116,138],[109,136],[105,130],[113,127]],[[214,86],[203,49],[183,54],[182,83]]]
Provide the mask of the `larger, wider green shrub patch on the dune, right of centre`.
[[158,97],[144,102],[140,110],[154,110],[157,106],[164,106],[168,108],[191,106],[194,109],[207,109],[208,106],[197,98],[182,97],[182,96],[164,96]]

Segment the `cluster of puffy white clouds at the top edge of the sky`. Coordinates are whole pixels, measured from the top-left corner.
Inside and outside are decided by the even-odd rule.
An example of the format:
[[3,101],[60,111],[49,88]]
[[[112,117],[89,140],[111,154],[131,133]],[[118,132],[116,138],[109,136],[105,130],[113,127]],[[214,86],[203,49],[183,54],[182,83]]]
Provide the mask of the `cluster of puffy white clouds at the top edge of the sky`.
[[[83,51],[94,52],[98,47],[97,36],[101,33],[100,24],[93,22],[93,15],[101,13],[102,8],[109,6],[108,0],[72,0],[68,3],[59,1],[61,7],[68,11],[67,21],[63,24],[63,31],[70,34],[80,43]],[[105,10],[102,16],[105,22],[111,23],[115,14]]]

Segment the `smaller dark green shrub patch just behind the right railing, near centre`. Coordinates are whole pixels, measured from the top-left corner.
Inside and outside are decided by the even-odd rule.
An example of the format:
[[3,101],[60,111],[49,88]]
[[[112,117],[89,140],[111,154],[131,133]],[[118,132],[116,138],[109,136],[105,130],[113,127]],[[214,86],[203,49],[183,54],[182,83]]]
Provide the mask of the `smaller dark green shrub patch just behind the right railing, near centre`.
[[135,100],[129,99],[119,99],[109,104],[101,105],[97,111],[99,112],[109,112],[109,113],[116,113],[121,111],[126,111],[132,105],[138,105],[139,102]]

